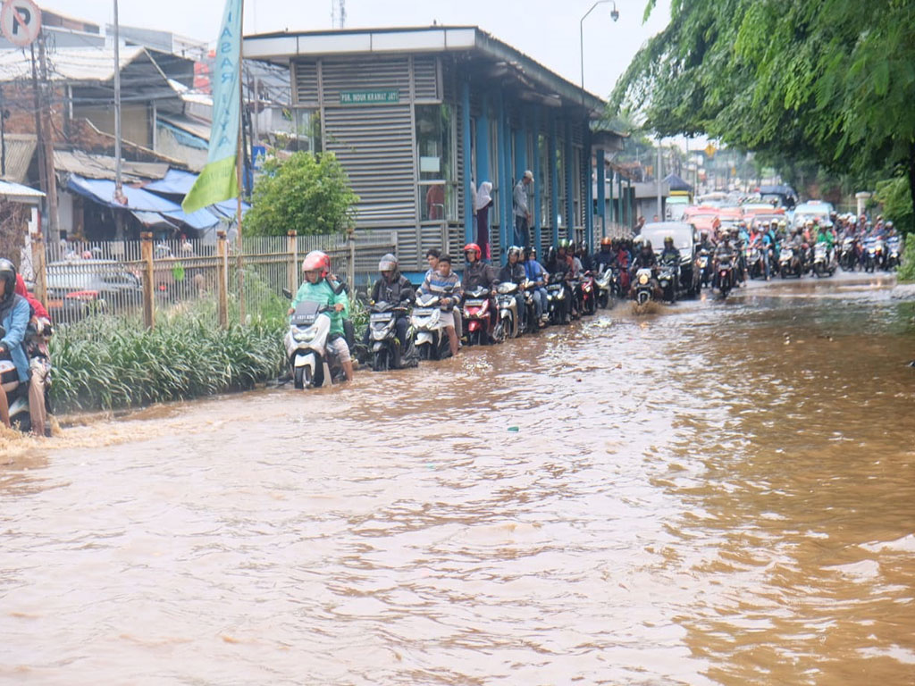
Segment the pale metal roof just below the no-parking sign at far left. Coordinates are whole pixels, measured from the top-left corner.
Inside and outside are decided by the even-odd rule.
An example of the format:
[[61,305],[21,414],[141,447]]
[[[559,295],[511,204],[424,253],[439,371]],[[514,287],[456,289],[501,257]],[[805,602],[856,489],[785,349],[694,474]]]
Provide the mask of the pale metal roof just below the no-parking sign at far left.
[[[141,55],[155,62],[146,48],[122,47],[118,56],[121,69]],[[0,50],[0,82],[31,78],[32,60],[24,50]],[[114,48],[57,48],[48,54],[49,80],[109,81],[113,78]]]

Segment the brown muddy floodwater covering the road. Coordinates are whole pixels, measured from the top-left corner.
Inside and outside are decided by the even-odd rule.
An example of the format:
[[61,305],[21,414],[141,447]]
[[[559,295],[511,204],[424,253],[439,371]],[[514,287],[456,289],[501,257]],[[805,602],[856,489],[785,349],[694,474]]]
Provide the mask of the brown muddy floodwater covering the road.
[[915,683],[913,316],[617,305],[6,438],[0,682]]

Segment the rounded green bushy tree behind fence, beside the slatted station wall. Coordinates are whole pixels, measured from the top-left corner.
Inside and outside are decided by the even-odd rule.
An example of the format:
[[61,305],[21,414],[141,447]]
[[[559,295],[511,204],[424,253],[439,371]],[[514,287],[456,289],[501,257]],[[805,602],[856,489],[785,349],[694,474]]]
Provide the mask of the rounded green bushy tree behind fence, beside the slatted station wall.
[[245,215],[245,232],[256,236],[336,233],[355,223],[359,198],[333,153],[300,152],[285,160],[264,162],[264,174],[254,184],[252,208]]

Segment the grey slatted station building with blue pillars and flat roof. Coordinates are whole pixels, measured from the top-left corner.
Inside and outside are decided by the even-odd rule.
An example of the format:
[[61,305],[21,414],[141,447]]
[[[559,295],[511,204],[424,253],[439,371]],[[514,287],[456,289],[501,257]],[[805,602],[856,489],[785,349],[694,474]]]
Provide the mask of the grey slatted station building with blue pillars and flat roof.
[[483,181],[490,253],[503,262],[525,169],[541,254],[561,238],[593,241],[603,169],[590,123],[605,103],[478,27],[263,34],[243,51],[289,67],[302,145],[337,155],[360,197],[357,230],[395,231],[404,271],[424,270],[429,248],[458,256],[479,241]]

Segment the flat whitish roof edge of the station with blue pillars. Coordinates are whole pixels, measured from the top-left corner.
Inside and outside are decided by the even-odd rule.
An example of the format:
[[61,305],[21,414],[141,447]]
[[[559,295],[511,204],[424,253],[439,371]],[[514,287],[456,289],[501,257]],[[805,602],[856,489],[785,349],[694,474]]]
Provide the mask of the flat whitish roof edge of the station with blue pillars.
[[603,113],[606,102],[575,83],[565,80],[544,65],[512,48],[479,27],[399,27],[303,31],[246,36],[242,52],[245,59],[288,63],[296,57],[358,55],[360,53],[476,52],[505,62],[535,81],[541,88],[556,93],[570,104],[581,104],[592,113]]

